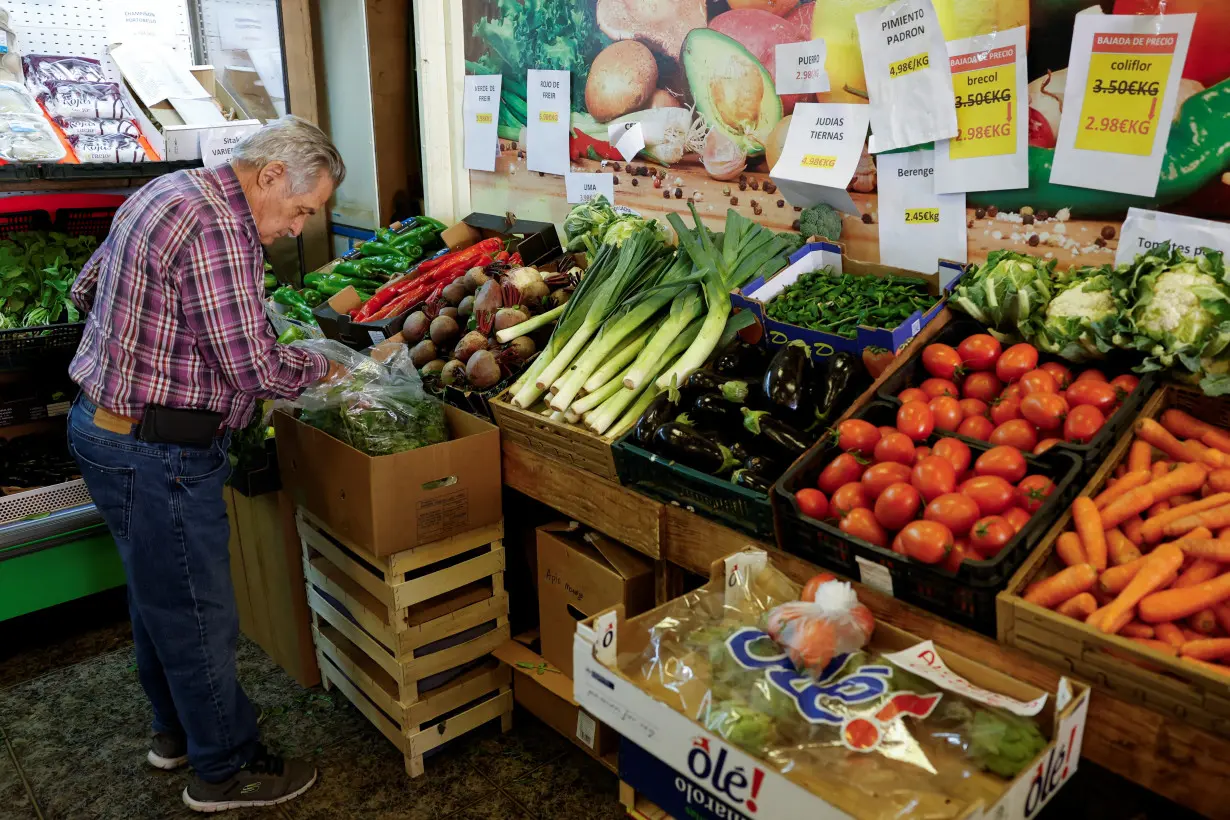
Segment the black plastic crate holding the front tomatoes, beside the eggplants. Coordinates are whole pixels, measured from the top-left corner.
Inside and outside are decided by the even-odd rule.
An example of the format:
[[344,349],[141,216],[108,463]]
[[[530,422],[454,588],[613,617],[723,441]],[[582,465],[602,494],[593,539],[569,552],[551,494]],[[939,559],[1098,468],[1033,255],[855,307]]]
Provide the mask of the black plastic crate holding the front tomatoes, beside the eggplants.
[[[895,416],[894,404],[876,401],[854,418],[881,427],[892,425]],[[932,434],[926,446],[937,440]],[[970,441],[969,449],[972,459],[977,460],[990,445]],[[839,452],[831,435],[827,435],[779,479],[774,507],[781,548],[988,636],[995,634],[995,595],[1007,585],[1012,573],[1042,540],[1047,526],[1071,504],[1080,489],[1080,459],[1074,454],[1052,447],[1041,456],[1027,455],[1027,475],[1050,478],[1054,492],[999,554],[986,561],[966,561],[952,573],[846,535],[833,521],[803,515],[795,492],[815,487],[820,471]]]

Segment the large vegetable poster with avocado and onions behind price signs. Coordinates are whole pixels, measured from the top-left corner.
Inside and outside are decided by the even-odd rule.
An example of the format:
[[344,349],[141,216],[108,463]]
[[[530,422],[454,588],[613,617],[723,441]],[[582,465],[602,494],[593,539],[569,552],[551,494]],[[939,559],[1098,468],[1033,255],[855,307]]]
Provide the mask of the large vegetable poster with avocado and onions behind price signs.
[[[569,167],[613,173],[616,204],[662,219],[685,211],[691,199],[715,229],[728,208],[775,230],[827,223],[787,202],[769,170],[798,103],[867,103],[855,16],[886,2],[464,0],[466,71],[503,75],[499,156],[494,172],[470,175],[475,210],[563,221],[569,208],[563,177],[526,167],[526,71],[555,69],[571,75]],[[1012,116],[1006,128],[1027,130],[1028,187],[967,193],[970,262],[1016,250],[1059,267],[1111,263],[1133,207],[1230,219],[1230,2],[932,2],[950,43],[1026,30],[1027,85],[1012,87],[1027,95],[1027,117]],[[1076,15],[1162,12],[1194,12],[1196,22],[1155,193],[1127,195],[1052,182]],[[780,45],[818,39],[823,49],[779,52]],[[780,76],[779,54],[812,57],[800,57],[795,68],[782,60],[797,75],[787,77]],[[822,58],[827,77],[815,70]],[[828,91],[815,90],[825,80]],[[792,93],[779,93],[779,87]],[[621,133],[619,127],[636,123],[645,148],[627,161],[608,140]],[[840,241],[854,257],[879,261],[877,160],[866,149],[849,192],[859,213],[839,216]]]

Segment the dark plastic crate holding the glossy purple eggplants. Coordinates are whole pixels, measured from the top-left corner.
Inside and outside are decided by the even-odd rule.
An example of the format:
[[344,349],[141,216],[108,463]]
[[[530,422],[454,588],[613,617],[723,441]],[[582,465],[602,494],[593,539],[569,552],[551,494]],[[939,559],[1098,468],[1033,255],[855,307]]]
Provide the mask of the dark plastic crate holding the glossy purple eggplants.
[[611,445],[619,483],[754,538],[772,541],[772,504],[768,494],[649,452],[632,435],[633,430],[629,430]]

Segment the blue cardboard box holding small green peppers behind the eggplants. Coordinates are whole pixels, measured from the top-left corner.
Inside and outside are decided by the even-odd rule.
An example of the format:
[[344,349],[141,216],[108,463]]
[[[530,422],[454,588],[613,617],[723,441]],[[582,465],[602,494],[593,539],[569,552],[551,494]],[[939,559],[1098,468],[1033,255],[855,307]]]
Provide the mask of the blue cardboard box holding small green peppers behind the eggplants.
[[[839,274],[851,277],[909,277],[921,279],[935,296],[935,304],[927,310],[915,311],[894,328],[860,327],[857,336],[847,339],[844,336],[813,331],[788,322],[770,318],[765,306],[787,285],[793,284],[804,273],[812,273],[831,266]],[[791,254],[790,267],[770,279],[755,279],[743,288],[743,295],[734,302],[737,306],[752,310],[765,328],[765,343],[769,347],[784,347],[793,339],[807,342],[812,358],[820,359],[838,352],[862,353],[863,348],[881,347],[888,350],[900,350],[918,336],[922,327],[935,318],[966,273],[966,266],[959,262],[941,261],[936,273],[918,273],[904,268],[892,268],[884,264],[860,262],[844,254],[840,245],[834,242],[809,242]]]

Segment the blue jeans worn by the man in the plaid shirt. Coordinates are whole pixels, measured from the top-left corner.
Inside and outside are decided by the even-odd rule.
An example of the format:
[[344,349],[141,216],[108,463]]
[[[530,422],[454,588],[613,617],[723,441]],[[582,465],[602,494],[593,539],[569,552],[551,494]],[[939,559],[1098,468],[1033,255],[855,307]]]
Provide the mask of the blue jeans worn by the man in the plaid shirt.
[[229,436],[208,449],[148,444],[96,427],[93,411],[85,396],[73,406],[69,449],[124,563],[154,730],[186,736],[197,775],[224,781],[257,741],[256,712],[235,677]]

